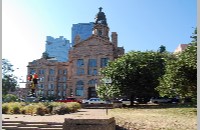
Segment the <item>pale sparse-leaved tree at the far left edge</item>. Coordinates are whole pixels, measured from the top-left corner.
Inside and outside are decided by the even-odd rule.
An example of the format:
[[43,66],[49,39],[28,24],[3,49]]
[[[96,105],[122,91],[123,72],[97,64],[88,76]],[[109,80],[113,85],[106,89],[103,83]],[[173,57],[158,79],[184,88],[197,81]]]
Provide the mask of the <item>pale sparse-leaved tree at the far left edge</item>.
[[7,60],[2,59],[2,94],[8,91],[15,91],[17,86],[17,77],[13,75],[13,65]]

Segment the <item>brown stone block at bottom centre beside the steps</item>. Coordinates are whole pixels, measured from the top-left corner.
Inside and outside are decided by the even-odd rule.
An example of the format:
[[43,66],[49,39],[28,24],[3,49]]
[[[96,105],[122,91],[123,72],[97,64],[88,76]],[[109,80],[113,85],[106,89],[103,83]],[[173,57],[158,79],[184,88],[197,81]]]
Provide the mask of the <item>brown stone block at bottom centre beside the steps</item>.
[[115,119],[71,119],[65,118],[63,130],[115,130]]

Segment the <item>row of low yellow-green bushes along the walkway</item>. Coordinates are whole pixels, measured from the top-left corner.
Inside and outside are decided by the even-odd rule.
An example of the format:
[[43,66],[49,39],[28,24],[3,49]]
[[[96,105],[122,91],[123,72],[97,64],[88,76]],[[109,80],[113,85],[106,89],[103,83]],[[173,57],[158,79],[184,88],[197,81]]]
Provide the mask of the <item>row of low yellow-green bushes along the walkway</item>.
[[25,103],[10,102],[2,104],[2,114],[67,114],[77,112],[81,105],[76,102]]

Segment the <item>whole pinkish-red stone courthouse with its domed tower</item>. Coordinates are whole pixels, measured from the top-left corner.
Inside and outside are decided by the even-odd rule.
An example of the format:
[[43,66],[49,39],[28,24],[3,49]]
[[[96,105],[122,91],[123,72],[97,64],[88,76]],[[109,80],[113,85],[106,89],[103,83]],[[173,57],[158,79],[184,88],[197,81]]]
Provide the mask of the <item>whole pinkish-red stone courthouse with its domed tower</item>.
[[[68,54],[68,62],[57,62],[43,53],[43,57],[28,64],[28,74],[38,73],[39,95],[65,98],[73,95],[78,99],[96,97],[95,86],[99,84],[99,70],[124,54],[124,48],[118,47],[118,35],[111,33],[106,15],[99,8],[90,37],[82,40],[74,38],[74,45]],[[28,84],[27,84],[28,87]]]

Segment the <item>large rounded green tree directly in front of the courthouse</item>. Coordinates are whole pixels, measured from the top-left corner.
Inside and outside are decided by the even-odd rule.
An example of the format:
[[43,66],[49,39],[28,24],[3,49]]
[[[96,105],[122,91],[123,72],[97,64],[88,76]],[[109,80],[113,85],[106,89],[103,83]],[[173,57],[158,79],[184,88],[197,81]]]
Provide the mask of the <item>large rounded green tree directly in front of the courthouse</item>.
[[155,96],[158,92],[154,88],[159,84],[158,78],[164,74],[169,55],[153,51],[132,51],[109,62],[101,74],[104,78],[112,79],[111,86],[112,89],[115,88],[115,93],[120,92],[121,95],[131,98],[131,102],[134,97]]

